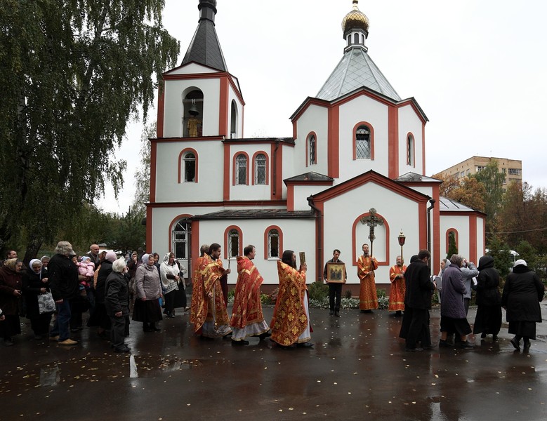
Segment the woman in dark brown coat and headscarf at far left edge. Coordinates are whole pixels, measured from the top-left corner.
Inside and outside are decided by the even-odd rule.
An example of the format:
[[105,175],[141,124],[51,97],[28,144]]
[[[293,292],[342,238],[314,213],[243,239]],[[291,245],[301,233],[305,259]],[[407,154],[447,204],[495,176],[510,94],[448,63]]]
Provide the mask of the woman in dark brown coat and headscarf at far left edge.
[[13,345],[12,336],[21,333],[19,321],[19,298],[21,296],[21,268],[22,262],[8,259],[0,267],[0,309],[6,319],[0,321],[0,335],[4,338],[4,345]]

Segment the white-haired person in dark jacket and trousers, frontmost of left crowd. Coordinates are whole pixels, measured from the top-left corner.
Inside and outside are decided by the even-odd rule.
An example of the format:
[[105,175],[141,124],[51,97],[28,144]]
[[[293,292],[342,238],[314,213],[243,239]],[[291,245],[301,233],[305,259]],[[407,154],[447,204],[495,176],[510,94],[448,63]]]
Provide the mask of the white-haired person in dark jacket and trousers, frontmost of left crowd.
[[110,316],[110,346],[114,352],[129,352],[124,338],[129,335],[128,268],[124,258],[114,260],[112,272],[105,281],[105,307]]

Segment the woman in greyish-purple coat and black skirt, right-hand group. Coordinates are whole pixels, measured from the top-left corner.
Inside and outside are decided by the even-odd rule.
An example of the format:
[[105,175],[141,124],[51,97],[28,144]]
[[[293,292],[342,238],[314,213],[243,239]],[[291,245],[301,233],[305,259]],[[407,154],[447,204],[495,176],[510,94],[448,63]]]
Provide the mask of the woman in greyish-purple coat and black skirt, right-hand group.
[[466,307],[463,301],[466,295],[466,285],[460,270],[462,262],[461,255],[452,255],[450,266],[444,269],[444,274],[442,274],[439,347],[452,347],[452,344],[447,341],[447,337],[449,334],[456,333],[461,338],[460,347],[473,348],[473,344],[467,340],[468,333],[471,333],[471,327],[466,319]]

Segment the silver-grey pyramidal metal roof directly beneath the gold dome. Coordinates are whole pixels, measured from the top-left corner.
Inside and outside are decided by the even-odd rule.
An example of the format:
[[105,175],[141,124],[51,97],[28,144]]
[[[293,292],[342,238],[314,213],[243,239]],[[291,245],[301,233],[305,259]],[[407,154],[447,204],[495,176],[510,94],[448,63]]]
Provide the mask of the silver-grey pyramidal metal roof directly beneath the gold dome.
[[317,98],[327,101],[335,100],[362,86],[393,100],[401,100],[367,51],[360,47],[350,48],[345,52],[334,72],[317,93]]

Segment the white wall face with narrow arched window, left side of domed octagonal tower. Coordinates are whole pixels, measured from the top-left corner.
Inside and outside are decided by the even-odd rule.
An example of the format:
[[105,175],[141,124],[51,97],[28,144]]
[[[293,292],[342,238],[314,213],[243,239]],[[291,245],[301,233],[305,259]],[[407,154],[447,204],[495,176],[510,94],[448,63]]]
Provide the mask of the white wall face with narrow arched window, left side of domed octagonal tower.
[[[315,173],[327,175],[329,166],[327,163],[327,142],[329,130],[329,111],[325,107],[310,105],[308,109],[300,116],[296,126],[298,138],[294,147],[294,175]],[[305,166],[307,154],[306,143],[308,135],[314,132],[316,135],[317,163]],[[290,176],[289,176],[290,177]]]

